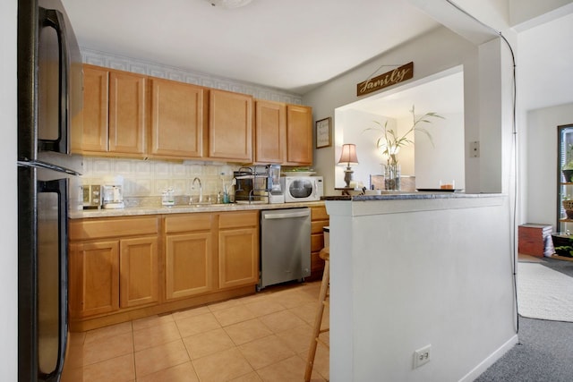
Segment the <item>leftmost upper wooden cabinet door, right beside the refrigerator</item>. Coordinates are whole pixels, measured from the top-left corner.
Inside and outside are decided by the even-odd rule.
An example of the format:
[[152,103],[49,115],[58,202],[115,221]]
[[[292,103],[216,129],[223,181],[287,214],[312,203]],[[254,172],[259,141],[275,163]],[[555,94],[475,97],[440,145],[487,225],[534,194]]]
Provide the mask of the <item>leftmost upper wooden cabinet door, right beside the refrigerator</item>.
[[73,151],[107,152],[108,80],[107,70],[83,66],[83,127],[80,148],[73,148]]

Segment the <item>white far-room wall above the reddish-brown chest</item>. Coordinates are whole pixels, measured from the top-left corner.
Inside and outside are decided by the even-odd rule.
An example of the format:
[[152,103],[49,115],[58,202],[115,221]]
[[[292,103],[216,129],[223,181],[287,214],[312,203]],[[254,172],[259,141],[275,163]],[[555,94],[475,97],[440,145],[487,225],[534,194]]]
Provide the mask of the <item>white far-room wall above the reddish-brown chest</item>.
[[532,110],[527,114],[526,192],[523,223],[552,225],[557,221],[557,126],[573,123],[573,104]]

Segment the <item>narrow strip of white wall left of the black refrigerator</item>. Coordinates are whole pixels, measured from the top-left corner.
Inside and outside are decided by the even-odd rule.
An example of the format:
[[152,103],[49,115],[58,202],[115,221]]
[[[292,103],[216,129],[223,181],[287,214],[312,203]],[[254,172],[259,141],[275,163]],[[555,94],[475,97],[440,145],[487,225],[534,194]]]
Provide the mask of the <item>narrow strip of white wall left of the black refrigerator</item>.
[[0,188],[4,202],[0,215],[0,380],[17,380],[18,348],[18,230],[17,187],[16,187],[16,15],[17,0],[0,2],[0,121],[2,121],[2,140],[0,140],[0,174],[4,186]]

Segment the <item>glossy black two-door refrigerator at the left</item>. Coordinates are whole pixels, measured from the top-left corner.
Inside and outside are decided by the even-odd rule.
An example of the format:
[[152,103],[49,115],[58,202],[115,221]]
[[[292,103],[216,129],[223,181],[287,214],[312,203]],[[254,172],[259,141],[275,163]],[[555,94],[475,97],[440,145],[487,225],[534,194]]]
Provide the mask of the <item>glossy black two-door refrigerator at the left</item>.
[[58,381],[67,319],[67,218],[81,158],[81,55],[59,0],[18,1],[18,380]]

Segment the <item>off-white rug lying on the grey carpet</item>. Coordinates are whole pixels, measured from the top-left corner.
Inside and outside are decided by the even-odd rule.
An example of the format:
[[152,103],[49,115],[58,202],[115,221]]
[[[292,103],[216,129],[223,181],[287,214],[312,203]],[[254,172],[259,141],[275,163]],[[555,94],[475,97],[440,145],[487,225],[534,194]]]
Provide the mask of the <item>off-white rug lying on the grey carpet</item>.
[[573,322],[573,277],[535,262],[517,263],[519,314]]

